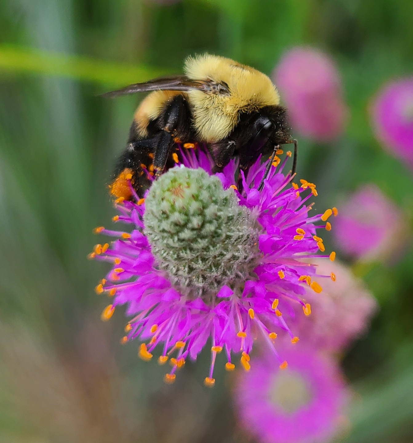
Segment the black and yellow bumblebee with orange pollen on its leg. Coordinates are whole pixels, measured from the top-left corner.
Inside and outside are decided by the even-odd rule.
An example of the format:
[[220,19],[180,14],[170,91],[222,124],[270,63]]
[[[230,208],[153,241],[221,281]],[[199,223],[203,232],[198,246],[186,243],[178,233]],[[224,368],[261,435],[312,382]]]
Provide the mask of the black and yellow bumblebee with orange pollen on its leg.
[[[127,147],[109,185],[117,198],[130,199],[130,180],[139,197],[151,177],[174,166],[178,144],[207,150],[215,172],[233,157],[246,170],[260,154],[297,142],[292,140],[286,108],[265,74],[229,58],[204,54],[185,60],[185,75],[158,78],[104,94],[151,92],[135,111]],[[269,163],[270,165],[270,163]]]

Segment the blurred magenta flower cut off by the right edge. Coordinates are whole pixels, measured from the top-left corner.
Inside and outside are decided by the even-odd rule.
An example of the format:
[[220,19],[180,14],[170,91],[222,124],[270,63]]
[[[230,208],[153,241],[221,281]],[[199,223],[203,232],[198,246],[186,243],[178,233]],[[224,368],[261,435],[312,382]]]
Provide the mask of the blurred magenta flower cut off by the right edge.
[[386,84],[374,101],[371,116],[377,138],[413,168],[413,77]]

